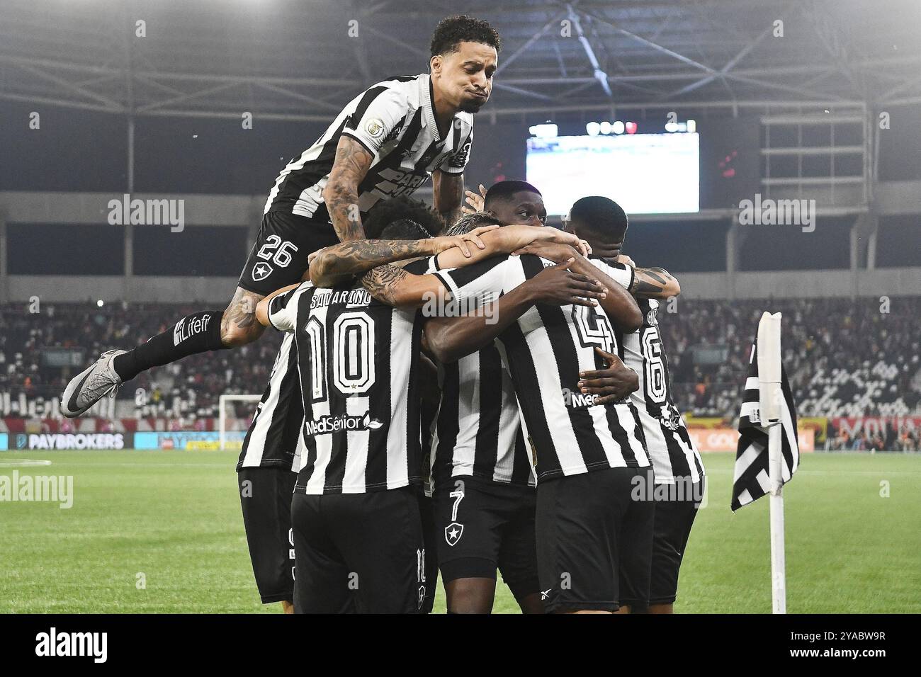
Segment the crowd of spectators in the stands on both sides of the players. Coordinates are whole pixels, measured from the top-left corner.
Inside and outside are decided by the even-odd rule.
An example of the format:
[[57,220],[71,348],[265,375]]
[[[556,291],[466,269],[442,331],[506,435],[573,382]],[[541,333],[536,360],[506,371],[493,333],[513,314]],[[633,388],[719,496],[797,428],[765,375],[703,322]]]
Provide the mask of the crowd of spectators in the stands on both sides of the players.
[[[191,307],[46,304],[32,313],[28,304],[6,305],[0,309],[0,393],[9,393],[11,405],[3,414],[21,414],[20,393],[27,400],[54,399],[63,390],[71,374],[44,365],[43,348],[82,348],[88,360],[114,346],[143,343],[167,328],[162,318]],[[784,313],[784,364],[800,415],[921,414],[921,298],[892,298],[889,312],[880,311],[878,298],[679,298],[663,309],[659,324],[670,355],[672,388],[686,414],[728,421],[738,414],[749,348],[764,309]],[[278,333],[268,332],[262,341],[237,350],[187,357],[143,373],[118,397],[135,400],[143,389],[143,404],[133,414],[216,416],[222,393],[262,392],[280,342]],[[897,430],[881,438],[829,437],[844,449],[918,445],[913,434]]]

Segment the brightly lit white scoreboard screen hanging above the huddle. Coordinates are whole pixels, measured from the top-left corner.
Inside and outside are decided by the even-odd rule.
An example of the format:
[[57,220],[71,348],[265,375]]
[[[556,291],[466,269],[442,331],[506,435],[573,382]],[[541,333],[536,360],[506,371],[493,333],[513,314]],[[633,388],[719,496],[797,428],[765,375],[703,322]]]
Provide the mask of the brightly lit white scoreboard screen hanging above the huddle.
[[699,134],[620,134],[528,139],[528,181],[547,214],[584,195],[604,195],[627,214],[700,211]]

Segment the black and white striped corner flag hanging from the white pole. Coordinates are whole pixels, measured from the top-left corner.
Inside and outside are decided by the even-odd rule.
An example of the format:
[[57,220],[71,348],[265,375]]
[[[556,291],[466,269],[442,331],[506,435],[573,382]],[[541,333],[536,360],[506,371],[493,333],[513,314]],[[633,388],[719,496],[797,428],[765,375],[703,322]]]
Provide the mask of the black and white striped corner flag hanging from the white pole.
[[[739,448],[736,450],[736,468],[732,480],[732,509],[738,510],[771,491],[768,473],[767,428],[762,427],[760,413],[761,388],[758,382],[757,341],[752,344],[748,379],[739,413]],[[782,427],[780,464],[782,484],[787,484],[799,468],[799,442],[797,440],[797,409],[787,381],[787,371],[781,365],[781,391],[784,401],[780,406]]]

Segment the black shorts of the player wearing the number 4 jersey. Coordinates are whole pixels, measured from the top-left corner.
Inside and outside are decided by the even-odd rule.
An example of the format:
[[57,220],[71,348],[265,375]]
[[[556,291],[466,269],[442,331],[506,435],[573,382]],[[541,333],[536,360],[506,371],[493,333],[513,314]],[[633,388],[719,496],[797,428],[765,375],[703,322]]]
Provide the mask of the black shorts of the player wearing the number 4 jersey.
[[655,504],[651,468],[605,468],[537,486],[537,566],[547,613],[645,610]]

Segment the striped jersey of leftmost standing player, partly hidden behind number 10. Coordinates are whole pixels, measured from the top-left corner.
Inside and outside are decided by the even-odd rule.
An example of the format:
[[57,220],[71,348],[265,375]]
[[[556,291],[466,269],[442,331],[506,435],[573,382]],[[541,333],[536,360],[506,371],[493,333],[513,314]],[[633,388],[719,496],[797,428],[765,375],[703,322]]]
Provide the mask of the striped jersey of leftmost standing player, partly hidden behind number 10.
[[243,448],[240,449],[237,471],[241,468],[289,468],[297,471],[298,442],[304,409],[300,399],[300,379],[297,377],[297,344],[294,334],[286,333],[269,383],[256,405]]

